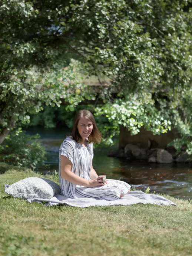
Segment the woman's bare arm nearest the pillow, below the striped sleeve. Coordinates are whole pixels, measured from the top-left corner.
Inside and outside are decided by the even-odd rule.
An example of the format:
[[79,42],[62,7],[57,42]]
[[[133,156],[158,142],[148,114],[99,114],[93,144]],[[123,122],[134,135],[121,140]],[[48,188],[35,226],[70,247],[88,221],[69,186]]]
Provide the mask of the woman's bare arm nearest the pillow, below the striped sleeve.
[[60,158],[60,172],[61,177],[65,180],[68,180],[69,182],[81,186],[89,186],[89,180],[86,180],[79,175],[72,173],[72,162],[64,155],[61,155]]

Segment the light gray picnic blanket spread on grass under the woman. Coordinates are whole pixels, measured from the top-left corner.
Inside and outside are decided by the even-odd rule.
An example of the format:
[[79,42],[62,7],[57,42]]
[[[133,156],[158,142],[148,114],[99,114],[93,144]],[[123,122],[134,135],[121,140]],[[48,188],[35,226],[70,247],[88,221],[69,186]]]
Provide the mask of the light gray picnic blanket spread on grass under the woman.
[[[41,203],[43,206],[54,206],[57,204],[70,205],[76,207],[89,207],[89,206],[111,206],[111,205],[130,205],[130,204],[156,204],[156,205],[170,205],[176,206],[172,201],[157,194],[146,194],[140,190],[130,191],[122,198],[116,201],[107,201],[104,199],[94,198],[77,198],[71,199],[58,194],[50,199],[32,198],[27,199],[29,203]],[[43,203],[44,202],[44,203]]]

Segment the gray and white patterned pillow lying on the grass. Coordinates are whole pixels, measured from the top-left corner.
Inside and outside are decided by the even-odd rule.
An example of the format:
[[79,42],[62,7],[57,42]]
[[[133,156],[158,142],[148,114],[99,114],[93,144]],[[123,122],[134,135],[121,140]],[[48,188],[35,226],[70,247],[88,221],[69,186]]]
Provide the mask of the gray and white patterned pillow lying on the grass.
[[61,193],[61,188],[57,183],[53,182],[52,180],[39,177],[25,178],[13,183],[12,185],[4,186],[7,194],[22,199],[50,199],[53,196]]

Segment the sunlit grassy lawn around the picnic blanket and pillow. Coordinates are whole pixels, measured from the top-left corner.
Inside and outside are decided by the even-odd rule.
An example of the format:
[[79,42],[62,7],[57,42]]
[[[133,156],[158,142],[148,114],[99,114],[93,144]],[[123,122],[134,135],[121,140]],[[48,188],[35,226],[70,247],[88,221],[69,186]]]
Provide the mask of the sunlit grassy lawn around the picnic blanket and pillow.
[[[3,173],[6,169],[6,172]],[[43,207],[4,193],[27,177],[59,177],[0,168],[0,256],[192,255],[192,203],[170,196],[176,207]]]

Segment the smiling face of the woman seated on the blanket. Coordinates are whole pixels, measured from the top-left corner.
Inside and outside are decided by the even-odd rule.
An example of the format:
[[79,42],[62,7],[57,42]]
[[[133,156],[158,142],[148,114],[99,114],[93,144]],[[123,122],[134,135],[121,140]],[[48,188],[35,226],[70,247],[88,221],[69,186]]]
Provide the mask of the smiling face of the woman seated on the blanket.
[[79,119],[79,123],[77,125],[77,129],[79,131],[80,136],[82,137],[83,140],[89,137],[89,135],[92,132],[93,129],[93,123],[90,122],[88,119],[85,117],[81,117]]

